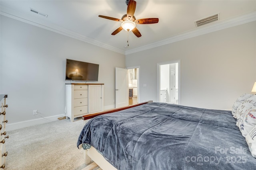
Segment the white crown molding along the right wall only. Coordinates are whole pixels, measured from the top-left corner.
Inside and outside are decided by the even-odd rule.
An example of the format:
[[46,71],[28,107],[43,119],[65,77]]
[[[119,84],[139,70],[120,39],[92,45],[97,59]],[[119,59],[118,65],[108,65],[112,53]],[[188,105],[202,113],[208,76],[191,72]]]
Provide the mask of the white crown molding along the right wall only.
[[152,49],[154,47],[159,47],[159,46],[162,46],[162,45],[174,43],[174,42],[181,41],[181,40],[184,40],[184,39],[196,37],[196,36],[199,36],[199,35],[204,35],[204,34],[207,34],[207,33],[211,33],[211,32],[214,32],[214,31],[219,31],[221,29],[234,27],[234,26],[241,25],[241,24],[244,24],[244,23],[249,23],[249,22],[252,22],[252,21],[256,21],[256,12],[252,12],[252,13],[249,13],[249,14],[244,14],[242,16],[238,16],[236,18],[231,18],[229,20],[219,21],[219,22],[217,22],[215,24],[212,24],[212,25],[204,26],[204,27],[201,27],[201,28],[196,28],[192,31],[187,31],[187,32],[181,33],[179,35],[174,35],[172,37],[168,37],[166,39],[161,39],[161,40],[155,41],[153,43],[148,43],[146,45],[142,45],[140,47],[125,51],[125,55],[132,54],[132,53],[137,53],[139,51],[144,51],[144,50],[147,50],[147,49]]

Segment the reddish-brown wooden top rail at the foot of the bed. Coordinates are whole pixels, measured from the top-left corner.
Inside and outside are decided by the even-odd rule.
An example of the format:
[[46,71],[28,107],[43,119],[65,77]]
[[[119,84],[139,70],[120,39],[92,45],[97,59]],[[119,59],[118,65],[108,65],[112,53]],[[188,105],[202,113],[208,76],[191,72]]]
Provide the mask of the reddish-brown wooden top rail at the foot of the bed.
[[93,117],[96,117],[98,115],[113,113],[113,112],[116,112],[116,111],[121,111],[121,110],[129,109],[129,108],[132,108],[132,107],[136,107],[136,106],[140,106],[140,105],[148,104],[148,103],[152,103],[152,102],[153,102],[152,100],[149,100],[148,102],[143,102],[143,103],[134,104],[134,105],[130,105],[130,106],[120,107],[120,108],[111,109],[111,110],[107,110],[107,111],[102,111],[102,112],[99,112],[99,113],[93,113],[93,114],[90,114],[90,115],[84,115],[84,116],[82,116],[82,119],[87,120],[87,119],[91,119]]

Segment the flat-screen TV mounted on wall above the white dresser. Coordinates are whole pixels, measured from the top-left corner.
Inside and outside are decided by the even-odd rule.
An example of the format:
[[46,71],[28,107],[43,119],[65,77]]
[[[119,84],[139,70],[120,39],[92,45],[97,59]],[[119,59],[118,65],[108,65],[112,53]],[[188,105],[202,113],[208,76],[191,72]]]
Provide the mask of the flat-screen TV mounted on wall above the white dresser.
[[98,81],[99,64],[66,59],[66,80]]

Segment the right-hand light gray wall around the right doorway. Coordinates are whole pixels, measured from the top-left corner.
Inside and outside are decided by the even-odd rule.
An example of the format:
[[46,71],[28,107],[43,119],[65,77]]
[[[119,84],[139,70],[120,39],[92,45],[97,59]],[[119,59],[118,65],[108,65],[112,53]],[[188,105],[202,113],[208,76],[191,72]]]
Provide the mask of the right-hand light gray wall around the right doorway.
[[157,63],[180,59],[182,105],[231,109],[256,81],[255,47],[254,21],[126,55],[126,67],[140,65],[140,102],[156,101]]

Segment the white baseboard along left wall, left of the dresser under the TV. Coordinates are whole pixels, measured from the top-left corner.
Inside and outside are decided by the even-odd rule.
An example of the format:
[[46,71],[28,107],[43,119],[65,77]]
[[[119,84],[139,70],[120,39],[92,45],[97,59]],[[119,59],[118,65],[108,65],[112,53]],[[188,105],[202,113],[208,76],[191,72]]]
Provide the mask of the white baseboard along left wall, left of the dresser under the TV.
[[26,121],[19,121],[16,123],[6,123],[6,131],[12,131],[15,129],[20,129],[23,127],[29,127],[33,125],[40,125],[43,123],[48,123],[50,121],[57,121],[58,117],[63,117],[65,115],[54,115],[54,116],[48,116],[44,118],[38,118],[38,119],[31,119],[31,120],[26,120]]

